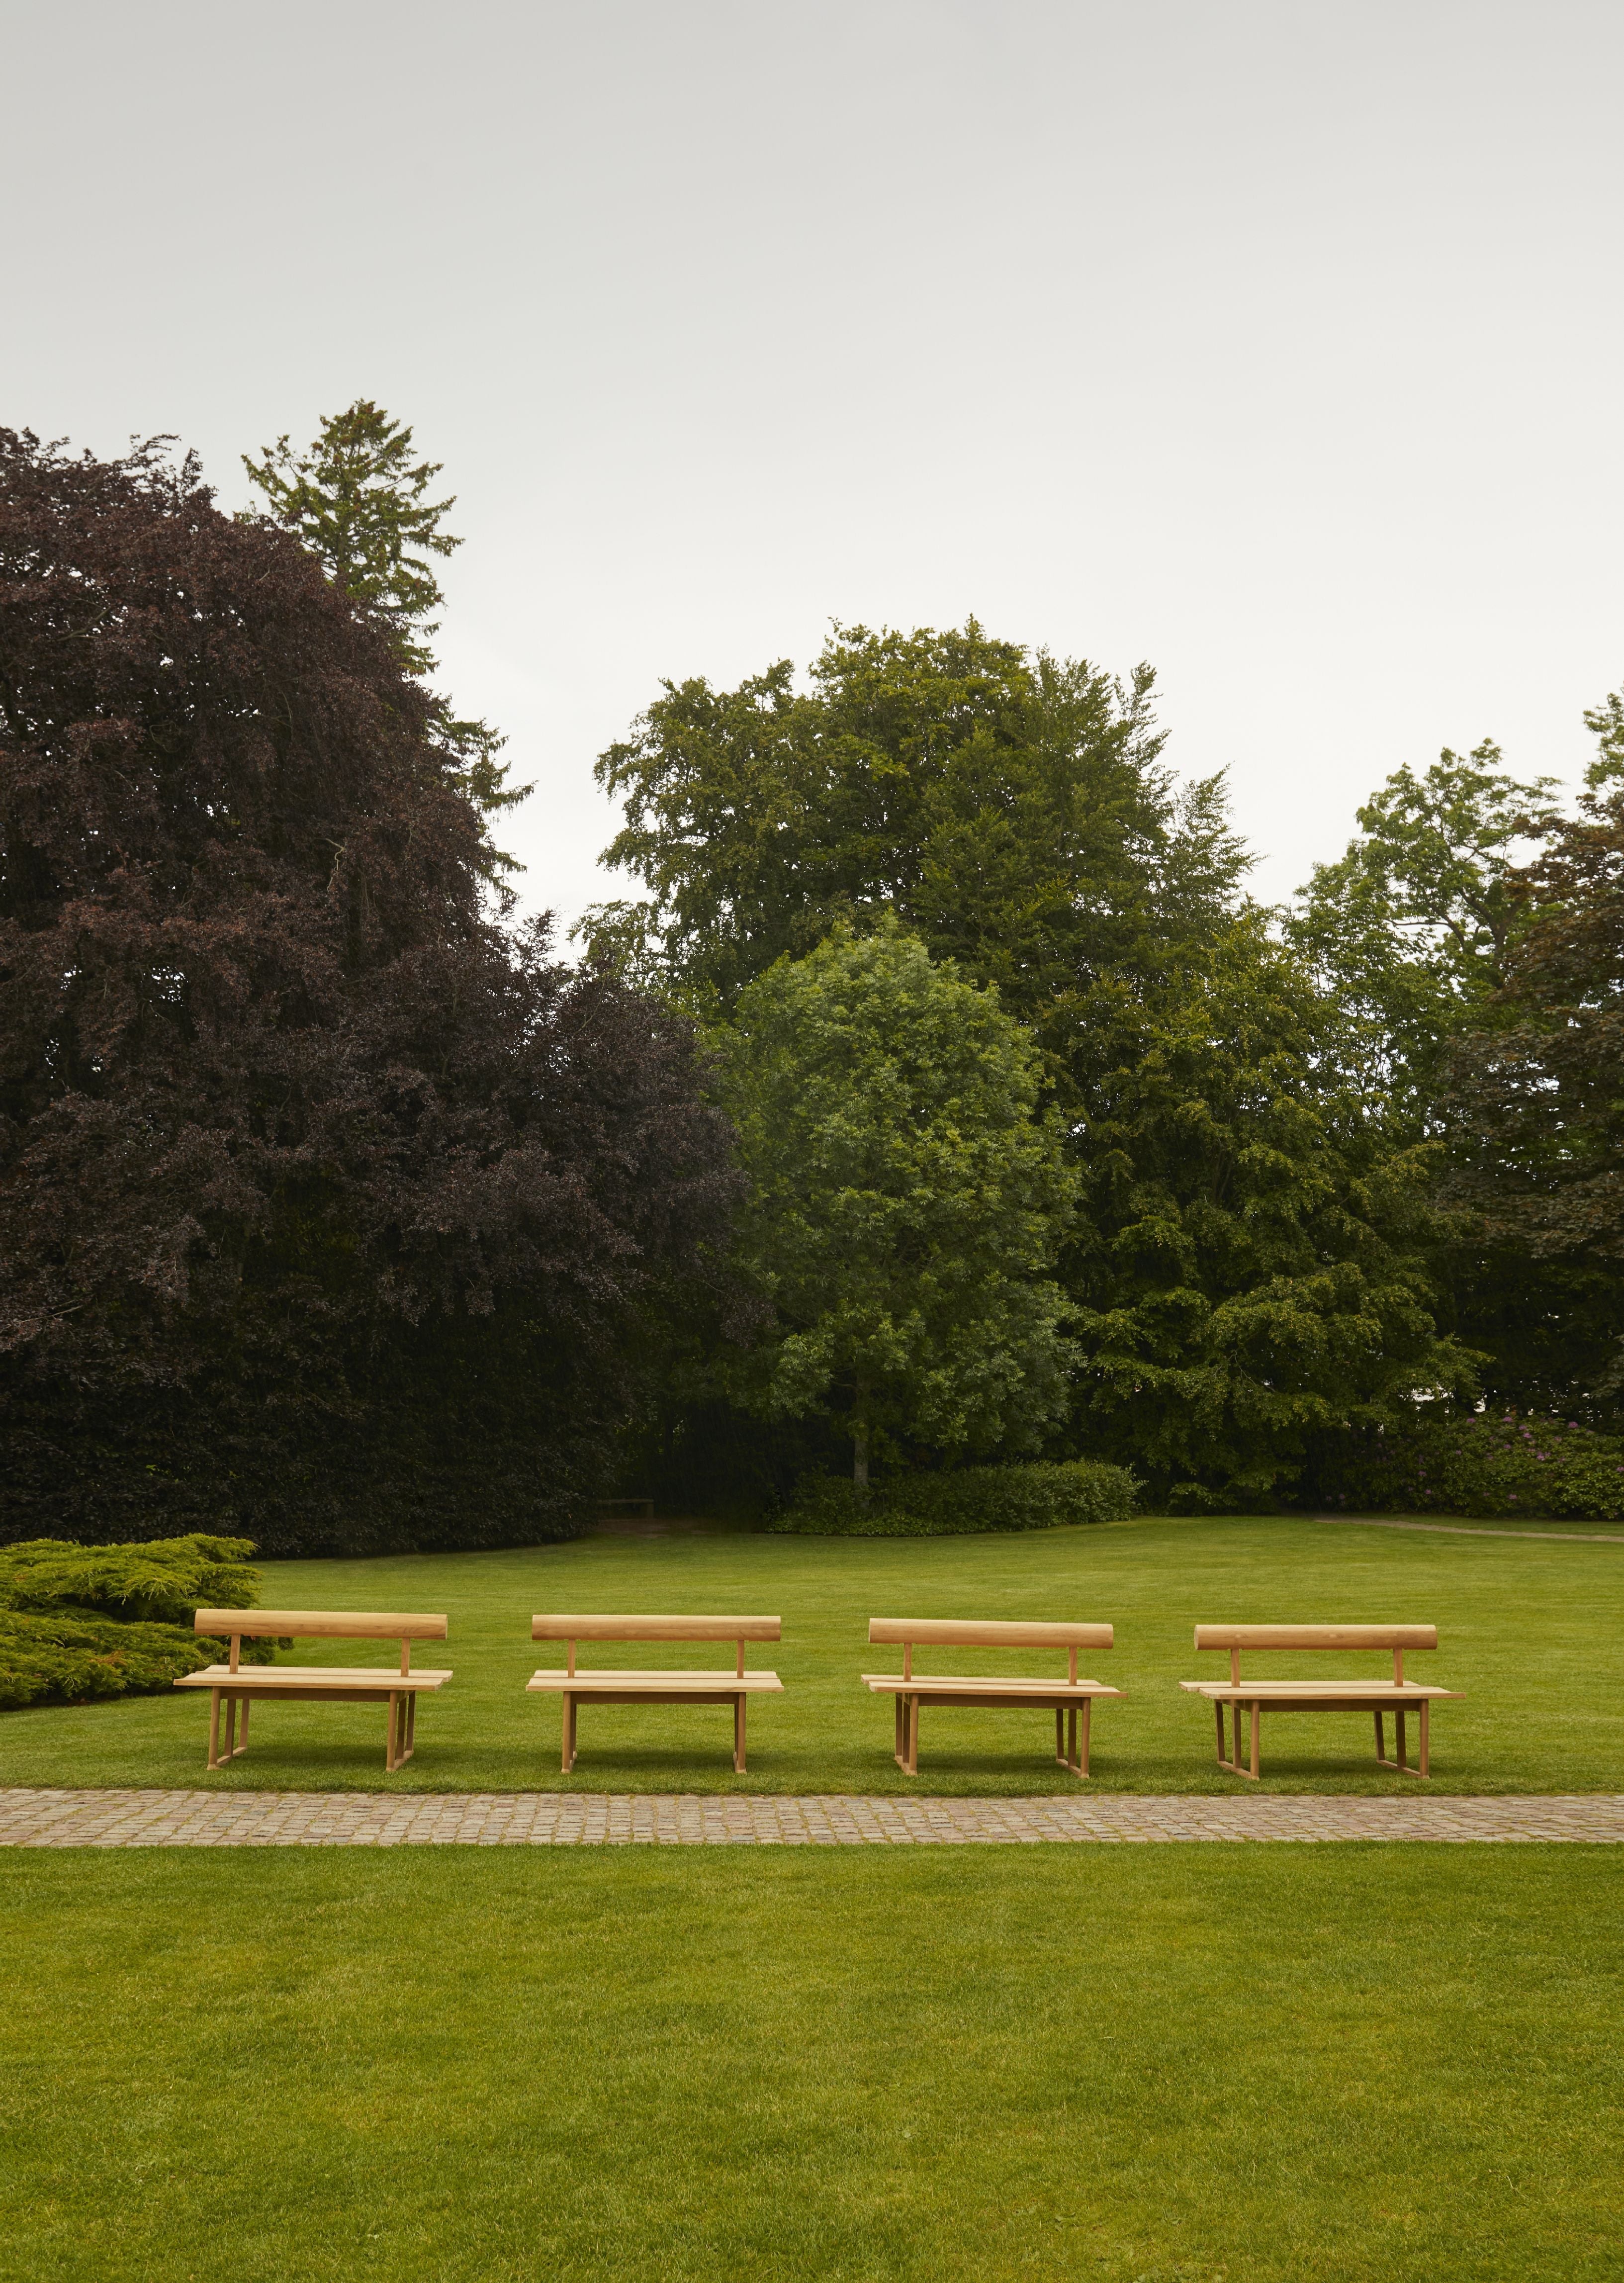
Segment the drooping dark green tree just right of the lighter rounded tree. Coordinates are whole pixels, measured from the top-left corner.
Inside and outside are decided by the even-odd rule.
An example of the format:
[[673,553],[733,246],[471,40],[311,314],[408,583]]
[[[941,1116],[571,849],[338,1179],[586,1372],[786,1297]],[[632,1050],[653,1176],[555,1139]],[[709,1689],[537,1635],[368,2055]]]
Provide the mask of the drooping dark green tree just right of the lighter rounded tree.
[[1425,1151],[1327,1082],[1297,959],[1245,913],[1124,1005],[1078,1132],[1078,1431],[1179,1502],[1268,1504],[1316,1445],[1471,1390],[1434,1322]]

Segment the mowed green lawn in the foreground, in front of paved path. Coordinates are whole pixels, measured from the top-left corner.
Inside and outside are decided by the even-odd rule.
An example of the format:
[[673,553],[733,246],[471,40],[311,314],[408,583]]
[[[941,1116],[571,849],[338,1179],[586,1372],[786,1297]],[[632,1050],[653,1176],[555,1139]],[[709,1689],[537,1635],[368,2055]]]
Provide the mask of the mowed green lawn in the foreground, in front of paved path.
[[11,1854],[9,2283],[1624,2274],[1608,1847]]

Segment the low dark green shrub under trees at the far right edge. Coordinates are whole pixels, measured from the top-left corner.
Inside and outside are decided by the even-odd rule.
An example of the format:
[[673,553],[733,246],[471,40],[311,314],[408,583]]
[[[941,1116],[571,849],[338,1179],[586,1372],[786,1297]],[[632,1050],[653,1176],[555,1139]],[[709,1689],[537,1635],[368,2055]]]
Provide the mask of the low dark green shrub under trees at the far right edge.
[[1354,1514],[1624,1520],[1624,1441],[1551,1413],[1478,1413],[1373,1434],[1320,1475]]

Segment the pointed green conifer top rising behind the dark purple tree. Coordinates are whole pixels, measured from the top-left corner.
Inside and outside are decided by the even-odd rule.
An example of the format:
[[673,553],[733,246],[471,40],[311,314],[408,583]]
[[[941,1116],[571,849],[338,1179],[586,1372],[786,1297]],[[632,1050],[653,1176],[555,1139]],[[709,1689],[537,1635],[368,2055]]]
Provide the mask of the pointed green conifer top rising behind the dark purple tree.
[[[409,673],[432,673],[429,616],[445,596],[434,557],[461,539],[443,530],[455,498],[434,500],[443,461],[413,457],[411,429],[370,397],[329,413],[304,452],[286,436],[258,459],[242,454],[249,482],[265,493],[270,521],[308,548],[333,587],[381,626]],[[489,721],[464,721],[432,699],[432,733],[448,772],[482,808],[505,808],[530,790],[507,785],[498,763],[505,737]]]

